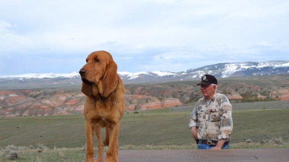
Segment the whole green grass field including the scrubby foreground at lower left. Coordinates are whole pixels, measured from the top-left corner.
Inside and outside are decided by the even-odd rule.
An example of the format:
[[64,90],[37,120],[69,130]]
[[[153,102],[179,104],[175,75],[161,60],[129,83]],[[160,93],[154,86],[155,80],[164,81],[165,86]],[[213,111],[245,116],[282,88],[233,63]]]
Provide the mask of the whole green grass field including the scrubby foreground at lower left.
[[[124,114],[120,149],[195,149],[189,114],[169,108]],[[288,148],[288,114],[289,108],[235,110],[231,148]],[[80,162],[84,145],[82,114],[0,119],[0,162],[7,161],[11,150],[22,157],[17,162],[57,161],[51,154],[63,162]]]

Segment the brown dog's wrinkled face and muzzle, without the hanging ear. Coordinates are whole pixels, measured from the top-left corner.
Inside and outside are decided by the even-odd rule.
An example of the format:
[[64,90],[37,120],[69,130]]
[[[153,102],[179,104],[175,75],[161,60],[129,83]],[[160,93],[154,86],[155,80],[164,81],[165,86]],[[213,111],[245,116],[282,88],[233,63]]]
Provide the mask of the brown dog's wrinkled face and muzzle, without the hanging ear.
[[105,51],[96,51],[89,54],[86,64],[80,70],[83,83],[87,85],[97,84],[103,78],[111,55]]

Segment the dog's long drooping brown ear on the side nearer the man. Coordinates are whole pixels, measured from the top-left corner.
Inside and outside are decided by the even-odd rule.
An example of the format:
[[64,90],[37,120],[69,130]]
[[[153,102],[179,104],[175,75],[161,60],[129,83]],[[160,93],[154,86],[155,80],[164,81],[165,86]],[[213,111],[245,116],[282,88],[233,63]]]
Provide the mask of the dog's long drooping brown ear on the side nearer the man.
[[117,86],[117,65],[112,59],[109,59],[108,69],[106,72],[107,73],[103,78],[103,97],[108,97]]

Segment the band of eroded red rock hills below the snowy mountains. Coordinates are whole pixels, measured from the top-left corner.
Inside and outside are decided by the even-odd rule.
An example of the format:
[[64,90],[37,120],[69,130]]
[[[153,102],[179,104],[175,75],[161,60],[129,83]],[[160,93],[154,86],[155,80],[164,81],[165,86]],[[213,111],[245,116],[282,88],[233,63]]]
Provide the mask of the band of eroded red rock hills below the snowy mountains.
[[[289,100],[288,79],[263,78],[221,80],[217,91],[231,102]],[[138,111],[194,103],[202,97],[196,82],[125,85],[125,109]],[[80,87],[0,90],[0,117],[82,113],[85,95]]]

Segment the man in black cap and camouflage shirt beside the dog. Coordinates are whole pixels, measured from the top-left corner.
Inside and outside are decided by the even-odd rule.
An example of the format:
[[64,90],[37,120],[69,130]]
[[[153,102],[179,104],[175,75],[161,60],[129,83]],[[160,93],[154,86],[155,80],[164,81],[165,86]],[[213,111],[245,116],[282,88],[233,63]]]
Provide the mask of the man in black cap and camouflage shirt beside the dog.
[[191,112],[188,126],[198,149],[228,149],[233,130],[232,105],[224,94],[216,92],[215,76],[206,74],[197,85],[203,97]]

